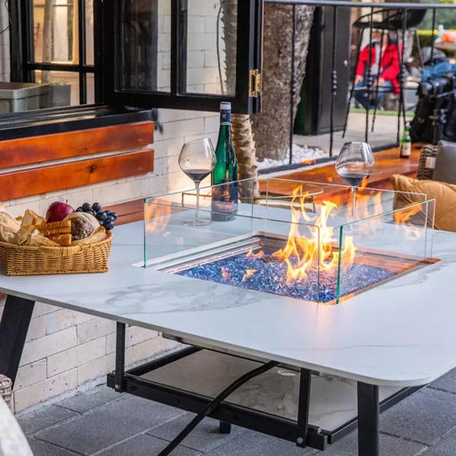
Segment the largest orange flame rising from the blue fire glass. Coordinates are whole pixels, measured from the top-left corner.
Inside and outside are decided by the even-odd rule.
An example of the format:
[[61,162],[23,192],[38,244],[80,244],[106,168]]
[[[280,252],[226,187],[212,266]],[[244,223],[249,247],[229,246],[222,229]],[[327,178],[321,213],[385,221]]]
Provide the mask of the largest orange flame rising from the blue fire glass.
[[341,265],[346,268],[353,264],[355,247],[352,236],[346,236],[345,245],[340,251],[333,248],[334,230],[328,226],[330,212],[337,205],[330,201],[322,201],[320,216],[315,220],[314,227],[307,226],[310,237],[305,237],[299,232],[301,219],[307,221],[310,217],[305,213],[305,195],[299,195],[300,205],[297,209],[294,205],[300,193],[300,187],[293,191],[291,200],[291,224],[287,244],[272,254],[272,258],[283,261],[287,265],[287,282],[302,281],[312,265],[318,264],[322,269],[330,271],[338,267],[339,257]]

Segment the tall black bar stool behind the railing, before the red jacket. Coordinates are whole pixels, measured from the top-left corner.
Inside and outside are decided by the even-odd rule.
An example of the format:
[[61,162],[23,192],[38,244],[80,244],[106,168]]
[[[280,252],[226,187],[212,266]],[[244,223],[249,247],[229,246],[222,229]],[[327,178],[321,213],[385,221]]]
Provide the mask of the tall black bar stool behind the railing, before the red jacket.
[[[404,98],[404,69],[405,69],[405,62],[404,62],[404,46],[403,46],[403,41],[405,37],[405,33],[407,31],[413,31],[413,40],[416,39],[417,43],[417,48],[418,48],[418,53],[419,53],[419,59],[421,56],[420,49],[419,49],[419,38],[416,33],[416,28],[421,22],[421,20],[424,19],[426,15],[427,9],[417,9],[417,10],[378,10],[378,11],[372,11],[369,14],[363,15],[361,18],[358,20],[354,21],[353,27],[360,29],[361,33],[359,35],[359,40],[358,40],[358,45],[356,48],[356,62],[359,60],[359,56],[361,53],[361,46],[362,46],[362,38],[365,30],[369,30],[371,34],[371,30],[374,28],[377,28],[379,30],[382,30],[382,37],[383,34],[388,33],[390,31],[395,31],[397,34],[397,49],[398,49],[398,57],[399,57],[399,62],[400,62],[400,73],[398,76],[398,83],[399,83],[399,102],[397,104],[397,96],[388,96],[387,97],[387,103],[389,103],[389,106],[394,106],[397,108],[397,116],[398,116],[398,132],[397,132],[397,142],[399,142],[399,136],[400,136],[400,123],[399,119],[401,118],[401,115],[403,116],[403,121],[405,122],[405,98]],[[374,17],[376,15],[379,15],[379,13],[387,14],[386,16],[383,17],[382,20],[374,20]],[[400,39],[400,31],[402,31],[402,41]],[[381,40],[383,41],[383,40]],[[412,47],[413,43],[411,43]],[[420,62],[420,66],[422,67],[422,62]],[[369,75],[370,76],[370,75]],[[377,75],[377,78],[379,75]],[[377,100],[379,96],[379,90],[378,90],[379,85],[376,85],[376,88],[372,91],[371,93],[371,85],[367,85],[367,94],[368,97],[373,94],[373,99],[375,100],[375,108],[374,108],[374,116],[372,119],[372,126],[371,129],[373,131],[374,125],[375,125],[375,117],[377,113]],[[346,134],[346,125],[348,121],[348,114],[350,111],[350,105],[354,97],[354,81],[352,81],[352,87],[350,90],[350,96],[346,108],[346,119],[345,119],[345,124],[344,124],[344,132],[342,134],[342,137],[345,136]],[[390,94],[393,94],[392,91]],[[367,126],[366,126],[367,128]]]

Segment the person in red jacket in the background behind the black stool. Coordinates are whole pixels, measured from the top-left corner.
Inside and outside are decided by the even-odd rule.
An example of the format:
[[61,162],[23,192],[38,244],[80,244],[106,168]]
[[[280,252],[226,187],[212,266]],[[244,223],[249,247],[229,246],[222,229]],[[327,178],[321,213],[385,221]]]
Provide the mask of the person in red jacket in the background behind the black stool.
[[[393,91],[399,94],[397,80],[399,53],[399,46],[388,37],[387,32],[372,30],[372,43],[362,49],[354,77],[354,98],[366,110],[379,106],[387,92]],[[366,84],[369,66],[371,66],[370,95],[367,93]],[[379,85],[378,89],[377,85]]]

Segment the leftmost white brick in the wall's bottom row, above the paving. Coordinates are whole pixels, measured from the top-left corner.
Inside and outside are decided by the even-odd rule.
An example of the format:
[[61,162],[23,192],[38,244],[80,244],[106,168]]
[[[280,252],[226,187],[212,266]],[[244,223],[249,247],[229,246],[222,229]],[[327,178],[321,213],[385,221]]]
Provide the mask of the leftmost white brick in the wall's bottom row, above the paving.
[[31,405],[45,401],[77,387],[77,370],[63,372],[50,379],[25,387],[14,393],[14,411],[24,410]]

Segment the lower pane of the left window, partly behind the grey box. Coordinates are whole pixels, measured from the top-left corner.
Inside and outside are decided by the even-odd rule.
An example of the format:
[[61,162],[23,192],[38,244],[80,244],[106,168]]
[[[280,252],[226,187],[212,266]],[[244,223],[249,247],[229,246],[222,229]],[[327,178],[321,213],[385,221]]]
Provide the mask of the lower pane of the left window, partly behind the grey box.
[[49,83],[41,108],[79,104],[79,73],[37,70],[35,80]]

